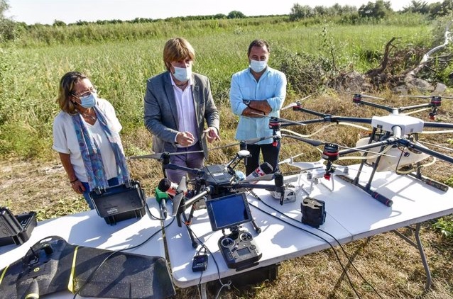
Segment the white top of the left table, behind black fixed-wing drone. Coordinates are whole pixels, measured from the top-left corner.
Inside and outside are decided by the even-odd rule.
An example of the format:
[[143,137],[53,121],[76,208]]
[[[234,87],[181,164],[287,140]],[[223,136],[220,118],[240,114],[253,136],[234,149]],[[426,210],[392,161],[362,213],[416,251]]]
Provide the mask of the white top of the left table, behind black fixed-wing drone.
[[[148,198],[148,206],[152,215],[160,217],[158,205],[154,198]],[[99,249],[119,250],[136,246],[160,230],[160,220],[151,220],[143,215],[141,219],[131,218],[108,225],[103,218],[97,215],[96,210],[66,215],[64,217],[38,222],[27,242],[16,246],[14,244],[0,247],[0,269],[21,259],[33,244],[48,236],[60,236],[70,244]],[[163,234],[158,232],[146,244],[126,252],[143,254],[146,256],[165,257]],[[67,293],[55,293],[41,298],[72,298]],[[77,296],[80,298],[80,296]]]

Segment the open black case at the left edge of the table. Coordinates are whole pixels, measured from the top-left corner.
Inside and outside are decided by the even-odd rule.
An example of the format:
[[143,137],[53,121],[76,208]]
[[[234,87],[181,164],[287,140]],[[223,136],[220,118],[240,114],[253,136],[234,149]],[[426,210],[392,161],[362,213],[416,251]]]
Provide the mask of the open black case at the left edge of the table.
[[[6,216],[8,215],[8,216]],[[36,227],[36,212],[12,215],[7,208],[0,211],[0,247],[10,244],[20,245],[28,241]],[[17,226],[18,225],[18,226]],[[11,234],[11,232],[17,232]]]

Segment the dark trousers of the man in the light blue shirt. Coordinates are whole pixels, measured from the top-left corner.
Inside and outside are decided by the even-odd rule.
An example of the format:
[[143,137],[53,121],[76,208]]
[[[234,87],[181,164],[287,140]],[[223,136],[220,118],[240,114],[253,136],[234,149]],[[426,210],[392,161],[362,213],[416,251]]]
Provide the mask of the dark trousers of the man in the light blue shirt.
[[280,141],[277,146],[272,143],[267,145],[247,145],[247,150],[250,152],[251,157],[245,159],[246,176],[251,174],[255,169],[260,166],[260,151],[263,153],[263,161],[271,164],[273,172],[278,170],[278,154],[280,153]]

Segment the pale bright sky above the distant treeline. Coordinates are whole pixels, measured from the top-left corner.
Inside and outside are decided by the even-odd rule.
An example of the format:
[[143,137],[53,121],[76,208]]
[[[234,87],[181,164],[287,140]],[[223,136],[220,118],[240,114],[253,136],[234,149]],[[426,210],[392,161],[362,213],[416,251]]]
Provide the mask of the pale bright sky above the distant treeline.
[[[356,6],[369,0],[6,0],[9,10],[5,15],[13,21],[27,24],[53,24],[55,20],[65,23],[77,21],[133,20],[134,18],[169,18],[174,16],[203,16],[230,11],[241,11],[246,16],[289,14],[291,7],[333,6],[334,4]],[[315,3],[314,3],[315,2]],[[375,2],[371,0],[371,2]],[[424,0],[423,2],[442,2]],[[392,9],[398,11],[409,6],[410,0],[391,1]]]

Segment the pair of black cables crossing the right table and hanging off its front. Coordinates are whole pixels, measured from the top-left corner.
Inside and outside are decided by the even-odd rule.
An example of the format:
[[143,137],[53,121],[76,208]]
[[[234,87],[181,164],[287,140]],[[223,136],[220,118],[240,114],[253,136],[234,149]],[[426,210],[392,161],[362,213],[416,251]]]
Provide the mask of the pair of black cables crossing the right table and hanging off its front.
[[[290,220],[293,220],[293,221],[295,221],[295,222],[298,222],[297,220],[288,217],[288,215],[285,215],[285,213],[280,212],[280,210],[277,210],[277,209],[273,208],[271,205],[268,205],[268,204],[265,203],[261,198],[259,198],[259,196],[255,196],[255,197],[258,199],[258,201],[261,201],[261,203],[263,203],[264,205],[266,205],[268,208],[271,208],[272,210],[275,210],[275,212],[279,213],[280,215],[283,215],[283,216],[285,216],[286,218],[288,218],[288,219],[290,219]],[[297,225],[293,225],[293,224],[291,224],[290,222],[286,222],[285,220],[282,220],[281,218],[278,218],[278,217],[276,217],[275,215],[272,215],[271,213],[268,213],[268,212],[266,212],[265,210],[262,210],[261,208],[258,208],[258,206],[256,206],[256,205],[253,205],[253,204],[251,204],[251,203],[250,203],[250,205],[252,205],[254,208],[257,208],[258,210],[261,210],[261,212],[265,213],[266,215],[270,215],[270,216],[272,216],[273,218],[278,219],[278,220],[280,220],[280,221],[282,221],[282,222],[285,222],[285,223],[288,224],[288,225],[291,225],[291,226],[293,226],[293,227],[295,227],[295,228],[298,228],[298,229],[300,229],[300,230],[302,230],[302,231],[304,231],[304,232],[309,233],[310,235],[313,235],[313,236],[315,236],[315,237],[318,237],[318,238],[322,239],[324,242],[326,242],[327,244],[329,244],[329,246],[332,248],[332,250],[333,250],[335,256],[337,257],[337,260],[338,260],[340,266],[342,266],[342,269],[343,269],[344,273],[346,274],[346,277],[348,278],[348,281],[349,281],[349,284],[351,285],[351,288],[354,290],[354,293],[356,293],[357,297],[360,298],[359,294],[356,292],[356,289],[354,288],[354,285],[353,285],[352,282],[351,282],[351,279],[349,278],[348,273],[346,272],[346,269],[344,268],[344,266],[343,266],[343,264],[342,264],[342,261],[339,259],[339,256],[338,256],[338,254],[337,254],[337,250],[334,249],[333,245],[332,245],[329,241],[327,241],[327,239],[324,239],[324,238],[321,237],[320,235],[317,235],[317,234],[315,234],[315,233],[313,233],[313,232],[310,232],[309,230],[305,230],[305,229],[302,228],[302,227],[299,227],[299,226],[297,226]],[[298,222],[298,223],[299,223],[299,222]],[[364,282],[365,282],[366,284],[368,284],[368,285],[374,290],[374,292],[378,295],[378,297],[379,297],[379,298],[382,298],[382,296],[377,292],[377,290],[376,290],[375,288],[373,288],[373,286],[371,285],[371,283],[369,283],[368,281],[366,281],[366,279],[364,278],[364,276],[362,276],[361,273],[359,272],[359,270],[356,269],[356,266],[354,266],[354,264],[352,263],[351,259],[349,259],[349,256],[346,254],[346,251],[344,250],[344,247],[342,247],[342,244],[340,244],[340,242],[339,242],[333,235],[329,234],[329,232],[325,232],[324,230],[321,230],[320,228],[317,228],[317,230],[320,230],[321,232],[324,232],[324,234],[329,235],[329,237],[332,237],[332,239],[334,239],[334,241],[337,242],[337,243],[339,244],[340,248],[342,249],[343,254],[346,256],[346,259],[349,261],[349,264],[351,264],[351,266],[353,266],[354,270],[356,270],[356,272],[359,273],[359,276],[364,280]]]

